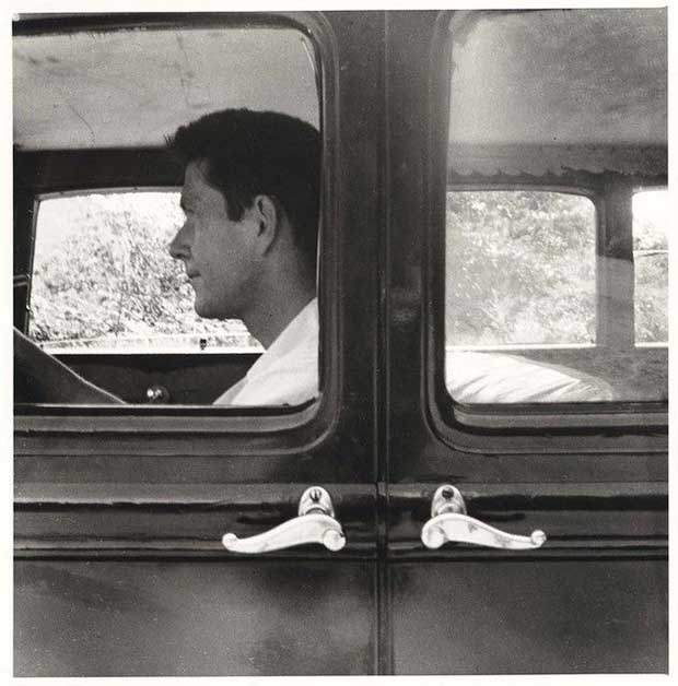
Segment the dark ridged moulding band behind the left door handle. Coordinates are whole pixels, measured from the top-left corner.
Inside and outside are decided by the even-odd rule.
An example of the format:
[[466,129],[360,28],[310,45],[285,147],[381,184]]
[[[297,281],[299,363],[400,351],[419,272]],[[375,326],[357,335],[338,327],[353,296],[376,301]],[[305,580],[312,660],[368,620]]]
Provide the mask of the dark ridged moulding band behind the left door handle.
[[[172,461],[170,462],[170,466]],[[375,488],[324,484],[347,544],[342,558],[376,557]],[[224,531],[247,539],[297,516],[304,484],[45,483],[15,488],[17,555],[65,556],[153,553],[241,559],[222,546]],[[336,554],[302,546],[288,554],[329,559]]]

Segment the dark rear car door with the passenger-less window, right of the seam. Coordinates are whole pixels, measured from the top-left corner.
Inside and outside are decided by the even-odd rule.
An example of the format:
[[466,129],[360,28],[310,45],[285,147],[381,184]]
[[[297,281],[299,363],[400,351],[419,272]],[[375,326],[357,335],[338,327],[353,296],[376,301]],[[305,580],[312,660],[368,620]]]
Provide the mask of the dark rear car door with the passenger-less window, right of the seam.
[[[629,317],[620,314],[633,310],[631,194],[646,185],[666,184],[665,22],[662,10],[388,14],[388,305],[382,350],[388,369],[384,412],[388,672],[667,670],[667,416],[661,390],[665,376],[663,381],[655,379],[654,389],[641,393],[641,400],[615,387],[611,400],[589,403],[506,404],[495,388],[498,377],[489,377],[483,387],[496,391],[494,400],[455,398],[457,391],[445,382],[446,374],[454,380],[467,371],[465,364],[471,363],[464,359],[475,359],[467,350],[461,351],[466,358],[453,356],[451,364],[445,350],[459,342],[449,323],[446,330],[445,315],[467,301],[449,292],[446,298],[445,281],[454,274],[445,253],[449,260],[466,249],[453,232],[461,222],[453,205],[469,190],[548,189],[564,190],[568,198],[583,196],[593,208],[592,216],[598,217],[591,224],[591,240],[595,243],[598,232],[597,243],[587,253],[597,283],[597,309],[593,308],[597,329],[593,343],[571,346],[570,352],[561,346],[559,364],[572,368],[576,357],[596,354],[607,360],[619,355],[627,369],[629,359],[651,365],[647,359],[656,356],[657,364],[666,364],[666,345],[643,347],[638,338],[634,344]],[[617,48],[606,43],[606,35],[618,36]],[[640,60],[650,55],[656,59],[644,67],[635,63],[639,71],[633,72],[628,60],[618,60],[622,44],[633,45]],[[600,55],[596,46],[609,51]],[[613,84],[593,96],[596,116],[588,129],[577,119],[586,111],[582,102],[592,96],[584,90],[586,78],[578,95],[572,90],[577,70],[583,69],[580,59],[594,76],[591,83],[596,71],[605,70]],[[539,84],[540,74],[553,80],[560,93],[525,86],[525,81]],[[615,129],[606,115],[610,111],[605,109],[606,98],[617,103],[621,118],[630,117],[631,128],[638,126],[632,104],[639,91],[624,86],[632,79],[636,85],[656,86],[658,97],[644,100],[652,105],[641,119],[659,122],[658,133],[621,141],[632,144],[631,157],[612,151],[605,164],[559,158],[559,143],[575,154],[576,130],[592,138],[606,131],[612,147],[615,135],[623,138],[624,127]],[[493,99],[504,92],[506,99]],[[549,97],[540,99],[545,93]],[[469,103],[472,107],[464,109]],[[561,109],[549,119],[553,103]],[[539,138],[545,130],[548,141]],[[593,142],[589,139],[587,144]],[[527,143],[534,144],[530,154],[524,147]],[[498,152],[498,146],[503,147]],[[477,243],[482,243],[489,235],[482,233],[484,228],[500,220],[492,214],[487,194],[476,196],[474,202],[474,236],[481,236]],[[517,205],[507,201],[502,206],[517,212]],[[508,238],[474,253],[475,274],[482,262],[490,263],[514,245],[511,240],[518,240],[515,232],[513,238],[510,233],[516,221],[510,217],[502,225]],[[533,236],[545,235],[543,224],[540,232]],[[533,237],[526,244],[537,241]],[[606,258],[629,268],[615,272]],[[487,293],[493,285],[504,286],[510,262],[495,262],[503,267],[490,269]],[[639,262],[636,255],[636,272]],[[463,267],[469,264],[467,260]],[[489,305],[490,296],[482,297],[481,304]],[[621,301],[621,309],[615,309],[612,300]],[[638,310],[635,315],[640,317]],[[536,319],[538,312],[530,321]],[[484,346],[471,347],[474,355],[487,356],[504,354],[510,346],[486,341]],[[518,347],[511,347],[512,355],[521,353]],[[559,346],[523,346],[521,354],[527,354],[526,347],[535,360],[537,352],[546,356],[547,348],[552,352]],[[612,382],[624,374],[618,370]],[[518,390],[528,382],[523,377]],[[470,522],[460,517],[459,496],[474,518]],[[453,524],[446,529],[445,517],[461,522],[463,532]],[[429,531],[426,547],[422,530],[434,518],[436,532]],[[487,524],[500,531],[482,537]],[[537,530],[546,534],[546,543],[541,534],[533,534]],[[525,536],[516,547],[527,549],[511,549],[516,540],[501,532]],[[460,536],[457,542],[455,535]]]

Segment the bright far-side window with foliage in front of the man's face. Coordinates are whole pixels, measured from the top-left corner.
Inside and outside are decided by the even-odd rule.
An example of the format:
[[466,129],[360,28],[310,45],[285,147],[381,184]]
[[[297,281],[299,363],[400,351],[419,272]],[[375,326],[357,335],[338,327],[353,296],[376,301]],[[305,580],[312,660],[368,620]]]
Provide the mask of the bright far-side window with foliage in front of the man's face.
[[183,222],[178,192],[42,200],[32,338],[52,353],[260,352],[239,320],[196,315],[167,250]]

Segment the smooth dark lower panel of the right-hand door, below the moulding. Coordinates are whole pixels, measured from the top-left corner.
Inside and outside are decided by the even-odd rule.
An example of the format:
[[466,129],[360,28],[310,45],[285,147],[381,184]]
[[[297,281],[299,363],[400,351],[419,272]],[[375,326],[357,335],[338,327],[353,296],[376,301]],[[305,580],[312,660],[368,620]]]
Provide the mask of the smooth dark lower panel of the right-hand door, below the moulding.
[[638,554],[394,564],[394,671],[666,672],[667,573]]

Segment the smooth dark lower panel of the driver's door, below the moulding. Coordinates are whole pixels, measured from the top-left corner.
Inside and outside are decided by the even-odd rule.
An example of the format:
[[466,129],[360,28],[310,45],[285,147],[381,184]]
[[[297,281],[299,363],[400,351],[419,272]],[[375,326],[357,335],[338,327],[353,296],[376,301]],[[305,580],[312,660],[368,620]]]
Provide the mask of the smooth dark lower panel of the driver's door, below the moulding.
[[20,560],[23,676],[370,674],[374,563]]

